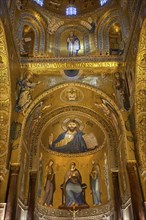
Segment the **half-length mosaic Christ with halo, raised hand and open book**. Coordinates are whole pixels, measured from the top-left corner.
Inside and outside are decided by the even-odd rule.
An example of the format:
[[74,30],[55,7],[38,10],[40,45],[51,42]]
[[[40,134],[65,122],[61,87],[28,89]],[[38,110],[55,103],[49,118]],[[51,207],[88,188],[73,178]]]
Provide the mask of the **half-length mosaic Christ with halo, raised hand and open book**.
[[69,119],[66,123],[66,131],[55,140],[51,133],[49,136],[49,149],[60,153],[83,153],[93,150],[98,146],[93,133],[85,134],[80,130],[79,121]]

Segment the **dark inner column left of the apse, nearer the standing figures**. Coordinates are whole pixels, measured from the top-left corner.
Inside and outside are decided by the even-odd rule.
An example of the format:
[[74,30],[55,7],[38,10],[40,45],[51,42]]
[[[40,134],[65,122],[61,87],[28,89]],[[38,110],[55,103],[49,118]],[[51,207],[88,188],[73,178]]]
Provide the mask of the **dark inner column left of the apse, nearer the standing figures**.
[[30,173],[29,201],[28,201],[28,220],[34,220],[36,176],[37,176],[36,172],[31,172]]

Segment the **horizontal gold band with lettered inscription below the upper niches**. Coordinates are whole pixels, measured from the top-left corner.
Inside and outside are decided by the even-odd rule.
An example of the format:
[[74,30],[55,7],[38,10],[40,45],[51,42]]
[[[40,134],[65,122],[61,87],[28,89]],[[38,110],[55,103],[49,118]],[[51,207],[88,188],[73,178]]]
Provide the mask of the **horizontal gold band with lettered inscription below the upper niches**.
[[[103,62],[105,61],[105,62]],[[113,69],[117,71],[119,64],[121,66],[124,63],[120,62],[120,60],[115,60],[108,57],[105,60],[100,60],[98,58],[87,58],[87,57],[78,57],[78,58],[64,58],[64,59],[45,59],[45,58],[32,58],[32,59],[21,59],[21,68],[26,68],[30,71],[34,71],[36,68],[41,68],[40,70],[64,70],[64,69],[92,69],[92,68],[102,68]]]

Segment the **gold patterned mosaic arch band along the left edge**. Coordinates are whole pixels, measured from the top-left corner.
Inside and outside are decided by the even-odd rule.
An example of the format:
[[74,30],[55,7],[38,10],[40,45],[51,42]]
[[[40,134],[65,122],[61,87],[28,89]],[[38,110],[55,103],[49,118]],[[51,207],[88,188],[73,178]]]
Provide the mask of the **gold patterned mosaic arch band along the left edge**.
[[10,137],[10,69],[4,25],[0,19],[0,178],[4,178]]

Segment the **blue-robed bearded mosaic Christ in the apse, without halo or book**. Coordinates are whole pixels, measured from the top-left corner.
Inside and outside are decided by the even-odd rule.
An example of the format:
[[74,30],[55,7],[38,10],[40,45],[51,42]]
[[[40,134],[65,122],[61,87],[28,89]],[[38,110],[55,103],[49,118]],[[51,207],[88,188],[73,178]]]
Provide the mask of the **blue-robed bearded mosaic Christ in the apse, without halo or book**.
[[[52,134],[53,135],[53,134]],[[60,134],[55,141],[50,141],[49,148],[61,153],[82,153],[87,151],[84,133],[77,130],[77,122],[69,121],[67,131]]]

